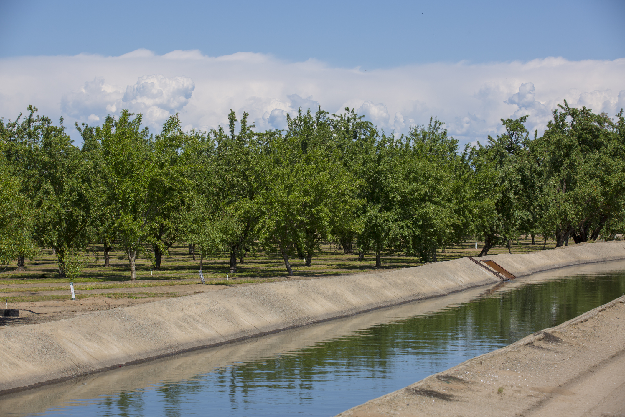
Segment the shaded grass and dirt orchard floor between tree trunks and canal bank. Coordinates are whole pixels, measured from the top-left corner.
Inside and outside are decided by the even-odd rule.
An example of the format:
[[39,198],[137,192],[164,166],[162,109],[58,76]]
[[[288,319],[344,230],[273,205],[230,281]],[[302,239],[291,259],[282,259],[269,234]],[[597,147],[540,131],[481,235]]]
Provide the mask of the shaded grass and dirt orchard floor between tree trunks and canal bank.
[[[542,250],[542,240],[531,243],[529,236],[513,242],[512,253],[530,253]],[[553,249],[555,241],[548,240],[546,249]],[[437,261],[449,261],[463,256],[477,256],[482,245],[464,243],[437,251]],[[507,253],[505,246],[494,246],[489,254]],[[8,308],[20,309],[19,318],[0,318],[0,328],[43,323],[66,319],[76,314],[111,309],[120,306],[149,303],[163,298],[187,296],[205,291],[219,291],[232,286],[249,286],[272,281],[315,279],[338,275],[357,275],[392,271],[419,266],[415,256],[382,253],[382,266],[376,268],[374,254],[358,261],[357,253],[345,254],[336,244],[325,243],[312,259],[312,266],[304,266],[305,259],[290,259],[294,276],[287,276],[279,254],[248,254],[237,262],[237,273],[228,273],[229,254],[204,259],[202,273],[206,285],[199,281],[199,256],[189,255],[187,245],[175,245],[169,255],[163,256],[160,269],[151,270],[149,259],[138,259],[137,281],[130,280],[128,259],[122,251],[112,251],[111,266],[104,268],[103,246],[89,246],[89,262],[79,278],[74,279],[76,300],[71,299],[69,279],[58,276],[56,256],[51,249],[42,249],[39,258],[26,261],[25,271],[14,271],[11,265],[0,274],[0,299]]]

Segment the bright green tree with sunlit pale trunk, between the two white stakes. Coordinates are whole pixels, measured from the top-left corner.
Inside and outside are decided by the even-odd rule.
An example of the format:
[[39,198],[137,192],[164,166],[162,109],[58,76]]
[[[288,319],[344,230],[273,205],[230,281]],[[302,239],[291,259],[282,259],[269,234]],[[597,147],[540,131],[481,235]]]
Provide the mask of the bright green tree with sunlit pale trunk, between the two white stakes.
[[[154,230],[181,204],[186,189],[184,167],[176,164],[181,146],[165,125],[164,134],[154,137],[141,128],[142,117],[123,110],[119,119],[108,118],[99,130],[106,162],[108,188],[113,193],[108,210],[114,229],[126,252],[131,280],[136,280],[136,259],[144,243],[159,244]],[[177,136],[176,136],[177,138]]]

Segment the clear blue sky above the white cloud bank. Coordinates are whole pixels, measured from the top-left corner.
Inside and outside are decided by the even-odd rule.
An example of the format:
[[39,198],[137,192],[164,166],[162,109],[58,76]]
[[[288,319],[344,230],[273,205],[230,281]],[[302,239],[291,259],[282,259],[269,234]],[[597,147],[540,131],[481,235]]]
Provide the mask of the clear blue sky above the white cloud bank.
[[0,56],[199,49],[388,68],[625,56],[625,1],[2,1]]

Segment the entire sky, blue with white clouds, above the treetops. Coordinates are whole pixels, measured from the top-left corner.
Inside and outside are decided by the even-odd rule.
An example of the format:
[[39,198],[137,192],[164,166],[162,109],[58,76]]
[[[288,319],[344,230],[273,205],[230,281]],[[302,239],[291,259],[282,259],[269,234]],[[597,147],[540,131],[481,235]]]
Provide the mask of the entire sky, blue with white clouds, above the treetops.
[[[563,99],[625,105],[625,1],[0,3],[0,117],[66,124],[131,108],[209,129],[259,128],[321,104],[405,133],[430,115],[461,142]],[[75,136],[75,133],[72,133]]]

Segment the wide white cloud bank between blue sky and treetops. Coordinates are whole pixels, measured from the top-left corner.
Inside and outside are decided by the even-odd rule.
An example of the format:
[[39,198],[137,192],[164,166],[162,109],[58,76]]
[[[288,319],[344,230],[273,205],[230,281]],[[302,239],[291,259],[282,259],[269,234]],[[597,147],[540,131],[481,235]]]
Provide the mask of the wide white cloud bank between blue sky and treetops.
[[[227,126],[229,109],[257,130],[286,127],[297,108],[330,113],[349,107],[386,132],[407,133],[436,116],[461,143],[501,133],[501,118],[529,114],[539,134],[564,99],[614,116],[625,108],[625,58],[563,58],[506,63],[431,63],[386,69],[332,68],[271,55],[209,57],[199,51],[121,56],[22,56],[0,59],[0,116],[14,119],[33,104],[65,123],[100,124],[131,109],[158,131],[180,113],[184,129]],[[74,138],[73,127],[69,132]]]

